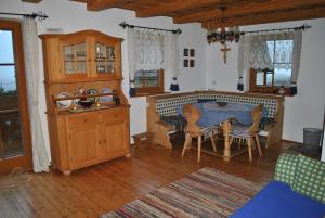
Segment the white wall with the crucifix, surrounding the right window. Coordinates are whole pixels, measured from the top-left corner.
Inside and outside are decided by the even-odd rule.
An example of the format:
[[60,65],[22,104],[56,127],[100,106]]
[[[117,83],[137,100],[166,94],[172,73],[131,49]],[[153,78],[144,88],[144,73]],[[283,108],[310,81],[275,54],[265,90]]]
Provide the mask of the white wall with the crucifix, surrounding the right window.
[[[311,29],[303,33],[298,94],[287,97],[285,102],[283,138],[302,142],[304,127],[322,128],[325,105],[325,20],[275,23],[242,28],[257,30],[285,28],[310,24]],[[227,63],[223,64],[220,44],[207,48],[208,88],[236,91],[237,84],[237,44],[232,43],[227,53]],[[213,84],[214,81],[214,84]]]

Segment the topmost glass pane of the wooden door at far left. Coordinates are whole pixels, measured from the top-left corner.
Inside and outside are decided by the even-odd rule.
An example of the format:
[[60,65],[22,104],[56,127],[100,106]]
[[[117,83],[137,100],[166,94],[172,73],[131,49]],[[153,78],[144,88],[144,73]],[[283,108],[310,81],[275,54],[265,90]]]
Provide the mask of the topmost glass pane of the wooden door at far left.
[[12,31],[0,29],[0,63],[14,63]]

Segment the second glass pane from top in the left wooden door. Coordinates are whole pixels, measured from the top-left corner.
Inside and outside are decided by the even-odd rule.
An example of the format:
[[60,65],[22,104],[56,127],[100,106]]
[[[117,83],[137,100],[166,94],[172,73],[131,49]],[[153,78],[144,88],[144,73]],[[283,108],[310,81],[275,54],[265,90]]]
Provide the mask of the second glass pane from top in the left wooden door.
[[0,66],[0,95],[16,95],[15,66]]

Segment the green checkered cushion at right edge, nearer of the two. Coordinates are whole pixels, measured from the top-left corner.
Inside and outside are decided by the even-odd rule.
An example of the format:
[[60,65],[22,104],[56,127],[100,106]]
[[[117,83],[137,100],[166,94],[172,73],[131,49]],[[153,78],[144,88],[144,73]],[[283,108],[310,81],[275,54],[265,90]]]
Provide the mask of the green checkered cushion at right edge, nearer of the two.
[[302,155],[298,159],[292,190],[325,203],[325,163]]

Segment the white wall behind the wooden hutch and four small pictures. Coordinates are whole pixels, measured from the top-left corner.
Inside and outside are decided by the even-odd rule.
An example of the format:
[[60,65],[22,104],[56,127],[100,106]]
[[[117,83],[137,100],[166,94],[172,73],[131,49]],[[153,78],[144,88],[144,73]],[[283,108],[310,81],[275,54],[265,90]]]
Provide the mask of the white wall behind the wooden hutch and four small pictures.
[[[182,54],[183,48],[194,48],[196,50],[196,67],[183,68],[180,62],[179,84],[182,91],[194,90],[205,87],[205,39],[202,36],[198,24],[173,25],[172,20],[168,17],[135,18],[132,11],[110,9],[102,12],[88,12],[84,3],[68,0],[43,0],[38,4],[22,3],[21,0],[0,0],[1,12],[31,13],[42,11],[49,15],[43,22],[38,22],[39,34],[46,34],[47,28],[62,28],[63,33],[73,33],[83,29],[96,29],[107,35],[121,37],[126,39],[126,30],[119,26],[119,23],[126,21],[130,24],[157,27],[157,28],[181,28],[179,49]],[[1,17],[8,17],[0,15]],[[12,17],[12,16],[10,16]],[[40,41],[41,52],[41,41]],[[42,57],[40,55],[40,57]],[[180,56],[181,60],[181,56]],[[40,60],[41,79],[40,89],[43,90],[43,66]],[[199,69],[199,70],[198,70]],[[122,76],[125,78],[122,88],[128,97],[129,92],[129,67],[127,54],[127,40],[122,43]],[[169,89],[171,73],[166,72],[166,90]],[[40,111],[46,111],[44,92],[40,93]],[[131,136],[146,131],[146,101],[145,98],[129,99],[131,104],[130,130]],[[48,134],[47,117],[42,117],[44,133]],[[48,139],[48,136],[46,136]],[[49,142],[48,142],[49,143]]]

